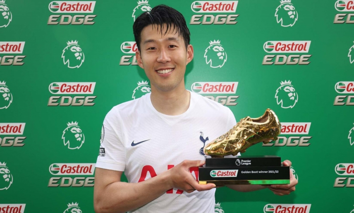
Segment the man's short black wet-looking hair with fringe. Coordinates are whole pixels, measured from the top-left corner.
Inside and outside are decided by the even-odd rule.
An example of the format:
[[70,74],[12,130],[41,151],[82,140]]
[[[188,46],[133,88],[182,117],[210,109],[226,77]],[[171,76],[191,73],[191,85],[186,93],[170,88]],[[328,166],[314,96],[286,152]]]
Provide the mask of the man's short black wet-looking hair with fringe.
[[171,7],[168,7],[166,5],[158,5],[154,7],[150,12],[145,12],[141,14],[133,24],[134,37],[139,50],[141,42],[141,32],[143,31],[144,27],[149,26],[150,24],[157,25],[158,29],[160,29],[161,31],[161,34],[163,33],[163,24],[167,25],[164,34],[167,33],[168,29],[172,28],[173,24],[172,30],[176,30],[178,36],[182,34],[187,49],[191,40],[191,33],[189,32],[185,18],[180,12],[176,11]]

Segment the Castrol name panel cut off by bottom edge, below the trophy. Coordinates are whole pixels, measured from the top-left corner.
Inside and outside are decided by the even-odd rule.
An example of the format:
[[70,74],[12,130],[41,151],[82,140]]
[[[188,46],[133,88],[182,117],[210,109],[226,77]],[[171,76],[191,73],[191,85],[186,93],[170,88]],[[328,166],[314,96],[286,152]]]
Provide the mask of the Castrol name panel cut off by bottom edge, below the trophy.
[[267,204],[264,213],[309,213],[311,204]]

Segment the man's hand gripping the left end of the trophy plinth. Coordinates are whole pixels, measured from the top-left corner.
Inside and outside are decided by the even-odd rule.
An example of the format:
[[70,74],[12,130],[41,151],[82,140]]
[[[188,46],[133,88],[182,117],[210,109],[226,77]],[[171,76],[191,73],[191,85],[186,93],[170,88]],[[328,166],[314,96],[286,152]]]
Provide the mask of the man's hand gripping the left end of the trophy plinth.
[[203,160],[184,160],[180,164],[166,171],[169,173],[169,184],[171,188],[181,189],[187,193],[206,191],[215,188],[215,184],[199,184],[189,172],[190,167],[202,166]]

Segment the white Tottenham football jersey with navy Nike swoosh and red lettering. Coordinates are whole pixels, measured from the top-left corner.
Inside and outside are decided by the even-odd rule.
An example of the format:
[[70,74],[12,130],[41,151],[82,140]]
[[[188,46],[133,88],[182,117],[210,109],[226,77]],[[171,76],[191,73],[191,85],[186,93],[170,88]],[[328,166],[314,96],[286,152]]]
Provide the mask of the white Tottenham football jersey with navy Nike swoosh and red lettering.
[[[123,171],[129,183],[138,183],[183,160],[204,160],[204,146],[227,133],[236,120],[228,107],[190,93],[188,110],[176,116],[158,112],[150,93],[113,107],[103,122],[96,167]],[[198,180],[198,168],[190,172]],[[172,189],[130,212],[214,213],[214,195],[215,189],[189,194]]]

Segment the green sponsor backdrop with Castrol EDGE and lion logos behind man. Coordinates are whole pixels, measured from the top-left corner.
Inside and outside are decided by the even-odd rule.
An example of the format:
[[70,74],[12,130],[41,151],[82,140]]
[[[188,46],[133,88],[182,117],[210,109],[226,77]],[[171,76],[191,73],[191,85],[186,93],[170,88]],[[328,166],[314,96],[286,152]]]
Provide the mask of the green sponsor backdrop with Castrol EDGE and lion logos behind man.
[[347,0],[1,0],[0,212],[94,212],[103,119],[150,92],[132,24],[159,4],[181,11],[191,31],[186,89],[237,120],[273,109],[282,135],[243,155],[289,159],[299,182],[288,196],[218,188],[215,212],[353,212]]

